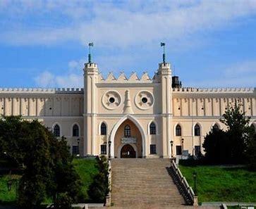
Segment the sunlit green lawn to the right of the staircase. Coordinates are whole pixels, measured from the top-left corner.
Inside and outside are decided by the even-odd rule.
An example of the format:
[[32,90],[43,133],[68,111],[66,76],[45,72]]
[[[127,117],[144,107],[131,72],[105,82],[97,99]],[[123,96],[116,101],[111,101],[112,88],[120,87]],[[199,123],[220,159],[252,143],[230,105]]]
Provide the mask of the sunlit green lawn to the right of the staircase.
[[197,194],[200,202],[256,202],[256,172],[245,168],[179,165],[182,174],[193,186],[197,172]]

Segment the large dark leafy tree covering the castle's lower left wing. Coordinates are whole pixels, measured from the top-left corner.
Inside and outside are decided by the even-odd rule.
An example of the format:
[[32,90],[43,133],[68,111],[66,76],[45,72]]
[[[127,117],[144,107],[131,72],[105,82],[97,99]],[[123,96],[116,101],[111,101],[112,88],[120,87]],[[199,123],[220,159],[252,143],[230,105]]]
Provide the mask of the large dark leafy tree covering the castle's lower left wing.
[[56,139],[37,120],[6,116],[0,119],[0,147],[23,170],[18,188],[20,208],[38,208],[47,196],[57,208],[60,202],[61,208],[68,208],[78,200],[80,179],[65,138]]

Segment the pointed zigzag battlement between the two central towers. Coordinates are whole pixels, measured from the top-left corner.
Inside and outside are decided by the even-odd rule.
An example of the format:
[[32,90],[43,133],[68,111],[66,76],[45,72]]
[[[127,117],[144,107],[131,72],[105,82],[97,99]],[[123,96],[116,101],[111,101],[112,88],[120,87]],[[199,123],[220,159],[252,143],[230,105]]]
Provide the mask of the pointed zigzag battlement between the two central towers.
[[130,77],[127,77],[124,72],[121,72],[121,74],[116,78],[113,74],[113,72],[109,72],[109,75],[104,79],[102,74],[99,74],[99,81],[100,83],[133,83],[133,82],[140,82],[140,83],[152,83],[156,82],[157,73],[154,74],[154,77],[150,77],[147,72],[143,72],[141,77],[138,77],[136,72],[133,72]]

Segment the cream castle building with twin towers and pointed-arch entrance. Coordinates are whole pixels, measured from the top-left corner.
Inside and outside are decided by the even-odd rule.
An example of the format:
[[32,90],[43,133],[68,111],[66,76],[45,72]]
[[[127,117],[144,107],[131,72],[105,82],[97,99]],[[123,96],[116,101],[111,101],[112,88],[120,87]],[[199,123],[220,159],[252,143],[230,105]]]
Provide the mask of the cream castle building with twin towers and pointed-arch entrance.
[[152,78],[134,72],[104,79],[90,61],[83,71],[83,89],[0,89],[0,114],[42,121],[66,137],[73,154],[112,158],[203,152],[205,135],[226,128],[219,118],[235,101],[256,129],[256,89],[181,87],[164,61]]

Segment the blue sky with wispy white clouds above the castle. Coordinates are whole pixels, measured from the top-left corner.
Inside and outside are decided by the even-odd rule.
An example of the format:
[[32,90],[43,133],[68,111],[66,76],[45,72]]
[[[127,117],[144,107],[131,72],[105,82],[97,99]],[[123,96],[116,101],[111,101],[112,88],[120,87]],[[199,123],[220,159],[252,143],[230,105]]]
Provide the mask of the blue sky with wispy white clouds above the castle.
[[184,87],[256,87],[256,0],[0,0],[0,87],[83,87],[88,43],[106,77],[154,75]]

